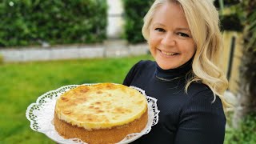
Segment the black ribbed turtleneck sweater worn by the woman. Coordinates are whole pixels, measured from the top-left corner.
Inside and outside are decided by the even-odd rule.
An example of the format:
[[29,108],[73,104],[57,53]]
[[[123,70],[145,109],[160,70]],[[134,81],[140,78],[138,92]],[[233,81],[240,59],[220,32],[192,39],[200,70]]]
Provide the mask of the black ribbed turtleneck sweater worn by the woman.
[[126,86],[137,86],[157,98],[159,120],[149,134],[133,143],[220,144],[224,141],[226,117],[222,102],[210,88],[192,82],[185,92],[191,61],[172,70],[156,62],[140,61],[126,75]]

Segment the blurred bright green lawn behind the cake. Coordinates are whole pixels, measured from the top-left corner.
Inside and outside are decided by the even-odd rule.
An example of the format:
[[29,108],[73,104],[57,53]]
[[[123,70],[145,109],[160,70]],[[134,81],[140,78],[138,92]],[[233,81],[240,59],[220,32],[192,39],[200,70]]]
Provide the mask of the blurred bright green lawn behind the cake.
[[30,129],[26,108],[38,96],[61,86],[122,83],[134,63],[149,55],[0,65],[0,143],[55,143]]

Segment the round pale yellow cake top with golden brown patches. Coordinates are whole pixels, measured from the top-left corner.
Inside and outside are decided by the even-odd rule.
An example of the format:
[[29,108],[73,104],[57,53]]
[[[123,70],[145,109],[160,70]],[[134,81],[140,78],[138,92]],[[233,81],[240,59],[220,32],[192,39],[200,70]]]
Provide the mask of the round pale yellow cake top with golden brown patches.
[[128,86],[100,83],[78,86],[56,102],[58,118],[86,130],[122,126],[147,110],[146,97]]

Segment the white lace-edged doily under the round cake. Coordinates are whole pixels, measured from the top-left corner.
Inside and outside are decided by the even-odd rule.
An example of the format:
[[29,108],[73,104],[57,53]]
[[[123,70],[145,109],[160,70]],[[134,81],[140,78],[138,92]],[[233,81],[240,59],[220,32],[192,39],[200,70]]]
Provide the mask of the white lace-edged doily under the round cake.
[[[93,84],[83,84],[83,85],[93,85]],[[70,138],[65,139],[62,138],[58,134],[58,132],[54,129],[53,119],[54,119],[54,107],[55,102],[61,94],[64,94],[67,90],[74,89],[79,85],[69,85],[69,86],[62,86],[57,90],[51,90],[46,94],[42,94],[38,97],[35,103],[31,103],[30,106],[26,109],[26,118],[30,121],[30,128],[34,131],[41,132],[46,134],[46,136],[55,142],[58,143],[82,143],[85,144],[86,142],[82,142],[82,140],[78,138]],[[130,86],[135,90],[138,90],[142,94],[146,96],[144,90],[139,89],[138,87]],[[154,126],[158,123],[158,110],[157,106],[157,99],[151,98],[146,96],[147,103],[148,103],[148,122],[144,130],[141,133],[134,133],[128,134],[126,138],[124,138],[118,144],[130,143],[134,140],[140,138],[144,134],[148,134],[151,130],[151,126]]]

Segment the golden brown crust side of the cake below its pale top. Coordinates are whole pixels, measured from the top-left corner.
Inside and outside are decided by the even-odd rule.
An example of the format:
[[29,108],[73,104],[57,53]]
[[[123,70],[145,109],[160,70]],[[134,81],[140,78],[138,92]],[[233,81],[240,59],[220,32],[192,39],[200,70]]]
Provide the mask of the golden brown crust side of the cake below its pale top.
[[63,138],[79,138],[89,144],[116,143],[122,141],[127,134],[140,133],[148,121],[147,110],[141,118],[122,126],[114,126],[110,129],[86,130],[82,127],[72,126],[64,122],[54,113],[54,126],[58,134]]

